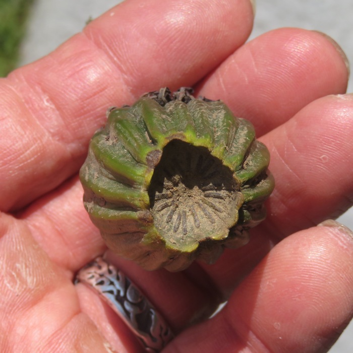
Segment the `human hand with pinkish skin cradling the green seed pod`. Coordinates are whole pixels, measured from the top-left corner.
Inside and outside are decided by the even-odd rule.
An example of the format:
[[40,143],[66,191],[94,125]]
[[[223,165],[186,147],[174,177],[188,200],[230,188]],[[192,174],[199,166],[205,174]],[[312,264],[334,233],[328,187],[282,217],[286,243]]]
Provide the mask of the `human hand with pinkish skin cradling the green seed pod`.
[[95,293],[73,285],[106,250],[77,172],[107,107],[163,86],[194,86],[252,121],[276,180],[251,242],[214,265],[146,272],[108,253],[179,333],[164,352],[329,349],[353,312],[353,238],[333,221],[315,225],[352,203],[353,96],[337,95],[347,70],[316,32],[244,44],[252,22],[247,0],[126,1],[0,82],[0,351],[141,351]]

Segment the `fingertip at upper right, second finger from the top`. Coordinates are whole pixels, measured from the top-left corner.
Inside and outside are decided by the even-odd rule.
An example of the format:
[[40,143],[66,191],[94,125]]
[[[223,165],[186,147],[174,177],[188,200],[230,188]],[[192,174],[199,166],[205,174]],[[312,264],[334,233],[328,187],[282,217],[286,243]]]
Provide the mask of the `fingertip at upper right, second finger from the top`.
[[274,30],[246,43],[200,85],[200,94],[222,100],[250,120],[258,136],[311,101],[344,93],[347,58],[318,32]]

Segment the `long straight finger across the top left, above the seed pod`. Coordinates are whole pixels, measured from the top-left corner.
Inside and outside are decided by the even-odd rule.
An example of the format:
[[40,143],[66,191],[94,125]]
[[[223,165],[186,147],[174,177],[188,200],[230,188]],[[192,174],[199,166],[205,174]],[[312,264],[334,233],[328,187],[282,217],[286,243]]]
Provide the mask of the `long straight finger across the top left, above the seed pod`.
[[200,80],[246,40],[252,19],[248,0],[126,1],[2,80],[0,209],[76,172],[109,106]]

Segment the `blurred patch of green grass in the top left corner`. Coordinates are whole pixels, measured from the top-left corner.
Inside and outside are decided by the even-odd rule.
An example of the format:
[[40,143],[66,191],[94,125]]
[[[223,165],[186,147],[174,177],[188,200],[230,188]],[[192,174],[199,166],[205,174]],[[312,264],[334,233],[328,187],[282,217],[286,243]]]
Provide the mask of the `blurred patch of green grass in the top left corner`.
[[15,69],[34,0],[0,0],[0,77]]

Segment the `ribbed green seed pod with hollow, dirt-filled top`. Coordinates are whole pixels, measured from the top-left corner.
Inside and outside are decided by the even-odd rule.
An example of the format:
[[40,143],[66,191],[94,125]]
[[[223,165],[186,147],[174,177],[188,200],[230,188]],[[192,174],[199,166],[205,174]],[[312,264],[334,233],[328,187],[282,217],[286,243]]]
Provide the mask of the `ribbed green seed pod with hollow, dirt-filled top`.
[[246,244],[274,187],[252,124],[191,93],[164,88],[110,109],[80,171],[107,246],[148,270],[212,263]]

